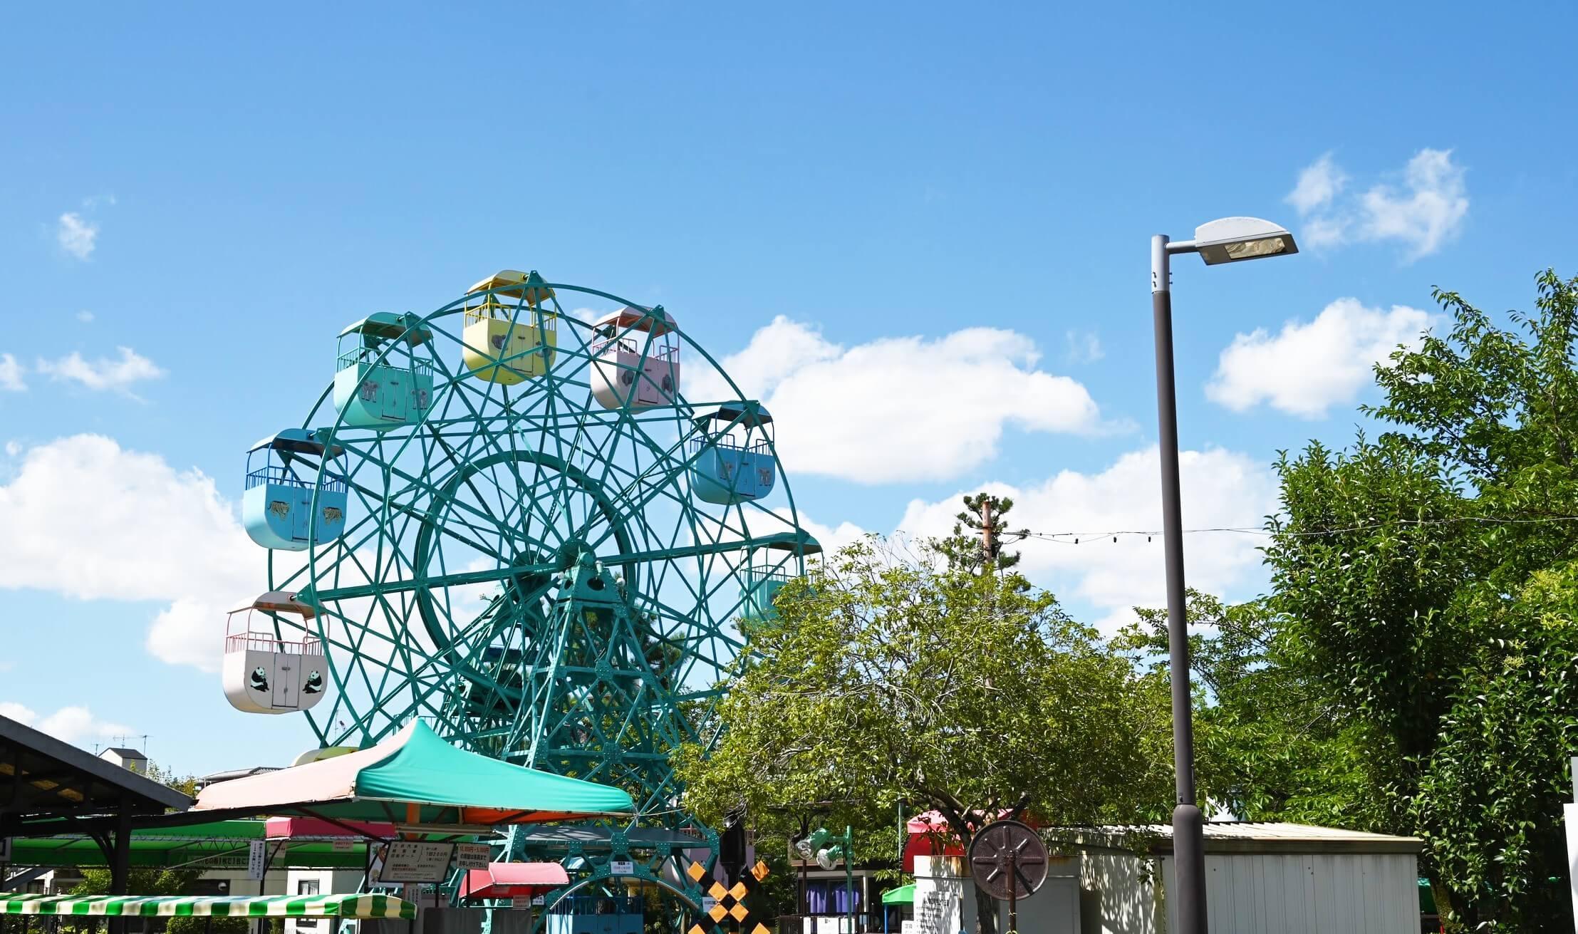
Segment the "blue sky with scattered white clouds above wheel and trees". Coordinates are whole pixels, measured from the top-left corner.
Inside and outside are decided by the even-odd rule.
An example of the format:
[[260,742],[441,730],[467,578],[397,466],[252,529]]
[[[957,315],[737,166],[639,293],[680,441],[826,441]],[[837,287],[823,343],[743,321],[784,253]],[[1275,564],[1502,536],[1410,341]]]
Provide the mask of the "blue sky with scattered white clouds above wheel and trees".
[[[150,626],[260,576],[243,450],[339,327],[499,268],[663,303],[833,538],[983,484],[1038,530],[1155,529],[1147,238],[1278,219],[1300,256],[1176,263],[1185,522],[1255,525],[1431,286],[1528,308],[1572,271],[1573,9],[1502,9],[13,8],[0,705],[183,771],[298,753],[189,664],[218,617]],[[1026,568],[1103,626],[1158,600],[1158,546],[1097,547]],[[1195,536],[1191,576],[1251,596],[1253,547]]]

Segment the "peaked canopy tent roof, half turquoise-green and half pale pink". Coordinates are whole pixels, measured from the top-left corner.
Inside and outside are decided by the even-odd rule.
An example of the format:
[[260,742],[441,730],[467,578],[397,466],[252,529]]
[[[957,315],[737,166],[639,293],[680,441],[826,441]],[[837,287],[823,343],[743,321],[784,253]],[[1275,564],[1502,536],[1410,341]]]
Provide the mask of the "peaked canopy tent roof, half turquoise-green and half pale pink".
[[631,817],[634,809],[623,789],[467,753],[412,721],[369,749],[211,784],[193,813],[308,814],[470,833],[500,824]]

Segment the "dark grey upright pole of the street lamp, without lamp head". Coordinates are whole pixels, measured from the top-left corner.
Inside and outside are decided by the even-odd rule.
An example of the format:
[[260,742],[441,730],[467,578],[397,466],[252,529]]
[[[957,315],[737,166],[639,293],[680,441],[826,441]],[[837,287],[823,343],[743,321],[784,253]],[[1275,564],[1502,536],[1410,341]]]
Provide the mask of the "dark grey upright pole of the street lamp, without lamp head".
[[1207,934],[1206,830],[1195,805],[1195,708],[1184,598],[1184,510],[1179,502],[1179,413],[1172,375],[1172,282],[1168,238],[1150,238],[1150,314],[1157,334],[1157,421],[1161,448],[1161,529],[1168,573],[1168,671],[1172,680],[1172,879],[1179,928]]

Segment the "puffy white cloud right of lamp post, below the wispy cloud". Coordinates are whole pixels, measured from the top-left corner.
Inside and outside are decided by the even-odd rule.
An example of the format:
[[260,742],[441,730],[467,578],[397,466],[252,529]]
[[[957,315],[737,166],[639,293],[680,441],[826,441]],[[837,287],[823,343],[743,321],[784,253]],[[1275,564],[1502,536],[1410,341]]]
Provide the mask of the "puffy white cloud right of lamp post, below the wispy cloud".
[[1324,418],[1330,405],[1354,401],[1373,366],[1398,344],[1417,347],[1433,320],[1417,308],[1382,311],[1338,298],[1311,322],[1286,322],[1277,336],[1266,330],[1237,334],[1217,360],[1206,396],[1234,412],[1266,402],[1289,415]]

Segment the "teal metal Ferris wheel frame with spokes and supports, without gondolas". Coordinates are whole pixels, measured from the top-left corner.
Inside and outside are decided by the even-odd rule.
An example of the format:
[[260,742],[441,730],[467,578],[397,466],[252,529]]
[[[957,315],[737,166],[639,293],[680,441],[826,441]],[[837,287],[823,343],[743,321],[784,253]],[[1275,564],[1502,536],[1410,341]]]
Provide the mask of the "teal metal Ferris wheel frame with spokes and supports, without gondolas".
[[[349,489],[344,532],[270,551],[270,590],[316,611],[330,683],[306,716],[320,745],[366,746],[423,718],[478,753],[620,784],[638,820],[685,827],[667,754],[715,742],[740,620],[770,612],[775,584],[821,549],[800,525],[765,410],[661,306],[532,276],[546,301],[519,289],[510,301],[497,287],[401,317],[402,339],[374,363],[431,368],[429,405],[409,424],[347,423],[323,391],[303,428],[330,456],[290,470],[314,484],[314,514],[325,484]],[[667,404],[600,405],[598,346],[630,341],[645,364],[650,328],[598,333],[562,293],[664,322],[723,398],[675,387]],[[540,375],[505,385],[461,361],[486,350],[458,327],[478,301],[507,306],[511,327],[557,323],[555,346],[524,352]],[[770,456],[778,483],[765,500],[694,495],[696,465],[718,439],[697,413],[720,410]]]

